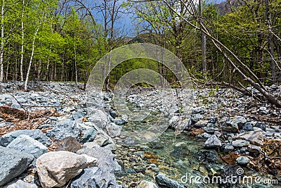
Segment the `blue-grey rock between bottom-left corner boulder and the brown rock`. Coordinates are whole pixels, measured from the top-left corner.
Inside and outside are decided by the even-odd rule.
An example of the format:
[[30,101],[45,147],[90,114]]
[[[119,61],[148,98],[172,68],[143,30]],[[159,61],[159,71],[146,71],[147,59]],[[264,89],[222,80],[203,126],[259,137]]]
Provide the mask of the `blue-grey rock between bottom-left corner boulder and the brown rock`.
[[41,142],[38,142],[36,139],[33,139],[25,134],[22,134],[14,139],[10,144],[8,144],[7,148],[30,153],[34,156],[34,158],[39,158],[39,156],[48,152],[48,148],[41,144]]

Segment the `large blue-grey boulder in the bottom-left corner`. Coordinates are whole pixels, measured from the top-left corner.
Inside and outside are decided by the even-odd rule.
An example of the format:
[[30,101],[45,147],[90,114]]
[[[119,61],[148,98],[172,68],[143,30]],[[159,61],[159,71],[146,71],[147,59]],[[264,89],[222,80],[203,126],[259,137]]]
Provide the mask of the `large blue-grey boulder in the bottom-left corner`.
[[33,159],[29,153],[0,146],[0,186],[21,175]]

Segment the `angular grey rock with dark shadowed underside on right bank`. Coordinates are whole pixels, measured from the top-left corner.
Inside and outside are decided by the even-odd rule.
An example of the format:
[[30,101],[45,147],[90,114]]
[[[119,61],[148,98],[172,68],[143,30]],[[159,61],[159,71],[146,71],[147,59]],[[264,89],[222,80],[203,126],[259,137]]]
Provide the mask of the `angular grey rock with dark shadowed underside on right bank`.
[[247,120],[243,116],[230,118],[230,120],[222,124],[222,130],[226,132],[238,132],[240,127],[242,127],[245,123],[247,123]]

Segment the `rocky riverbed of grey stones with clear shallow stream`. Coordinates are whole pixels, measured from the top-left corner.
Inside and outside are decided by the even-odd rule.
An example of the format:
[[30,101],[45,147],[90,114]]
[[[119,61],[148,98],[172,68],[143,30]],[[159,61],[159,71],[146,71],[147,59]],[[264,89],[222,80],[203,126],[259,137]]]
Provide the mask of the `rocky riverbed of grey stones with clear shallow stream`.
[[[117,113],[111,93],[89,105],[81,88],[30,82],[23,92],[22,82],[0,83],[0,187],[281,185],[281,112],[270,104],[232,89],[195,89],[188,115],[175,107],[164,134],[124,146],[122,131],[145,130],[162,113],[157,91],[129,90],[126,106],[152,114],[130,122]],[[280,87],[267,89],[281,97]],[[208,182],[214,177],[222,181]]]

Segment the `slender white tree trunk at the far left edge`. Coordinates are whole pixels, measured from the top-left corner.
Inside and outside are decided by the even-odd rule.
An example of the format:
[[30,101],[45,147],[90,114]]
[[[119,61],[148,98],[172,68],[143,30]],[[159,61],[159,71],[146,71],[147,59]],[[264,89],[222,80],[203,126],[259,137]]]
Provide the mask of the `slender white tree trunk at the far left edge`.
[[4,61],[3,61],[3,55],[4,55],[4,6],[5,6],[5,0],[3,0],[3,2],[2,2],[2,8],[1,8],[0,82],[3,82],[3,79],[4,79]]

